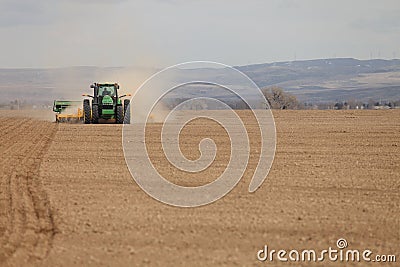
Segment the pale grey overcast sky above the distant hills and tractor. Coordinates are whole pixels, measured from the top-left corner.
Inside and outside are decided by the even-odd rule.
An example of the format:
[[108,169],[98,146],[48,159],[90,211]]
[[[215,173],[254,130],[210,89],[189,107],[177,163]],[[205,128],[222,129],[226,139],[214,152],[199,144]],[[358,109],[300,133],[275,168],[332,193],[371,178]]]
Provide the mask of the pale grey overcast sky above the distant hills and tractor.
[[0,67],[400,57],[399,0],[0,0]]

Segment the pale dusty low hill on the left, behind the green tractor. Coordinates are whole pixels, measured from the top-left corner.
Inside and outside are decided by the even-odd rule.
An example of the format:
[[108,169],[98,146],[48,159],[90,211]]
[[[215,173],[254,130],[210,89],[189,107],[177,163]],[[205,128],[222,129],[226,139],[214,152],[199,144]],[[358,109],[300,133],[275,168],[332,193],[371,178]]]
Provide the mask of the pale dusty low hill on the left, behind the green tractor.
[[81,100],[82,94],[92,92],[93,82],[119,82],[125,91],[131,91],[153,73],[128,67],[0,69],[0,103],[15,99],[46,104],[54,99]]

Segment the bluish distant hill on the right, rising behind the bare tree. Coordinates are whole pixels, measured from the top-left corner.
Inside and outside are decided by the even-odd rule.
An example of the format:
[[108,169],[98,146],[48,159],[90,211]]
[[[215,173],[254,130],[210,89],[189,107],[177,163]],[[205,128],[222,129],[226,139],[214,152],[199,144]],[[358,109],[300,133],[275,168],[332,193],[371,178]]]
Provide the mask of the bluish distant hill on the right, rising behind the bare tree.
[[258,86],[282,87],[302,101],[400,99],[399,59],[317,59],[236,68]]

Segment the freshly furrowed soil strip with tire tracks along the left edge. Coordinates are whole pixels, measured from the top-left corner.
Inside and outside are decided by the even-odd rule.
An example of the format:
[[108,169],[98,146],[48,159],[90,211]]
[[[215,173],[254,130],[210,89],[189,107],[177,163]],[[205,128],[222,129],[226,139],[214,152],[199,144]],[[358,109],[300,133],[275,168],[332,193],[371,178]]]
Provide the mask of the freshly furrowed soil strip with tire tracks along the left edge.
[[2,117],[0,125],[0,265],[21,266],[45,258],[56,232],[39,171],[57,125]]

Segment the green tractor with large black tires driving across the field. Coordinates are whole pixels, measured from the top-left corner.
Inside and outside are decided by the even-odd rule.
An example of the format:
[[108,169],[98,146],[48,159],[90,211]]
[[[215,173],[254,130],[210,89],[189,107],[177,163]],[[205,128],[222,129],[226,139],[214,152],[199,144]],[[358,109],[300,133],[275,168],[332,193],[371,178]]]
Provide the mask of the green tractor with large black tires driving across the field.
[[93,88],[93,95],[82,95],[92,98],[92,105],[90,105],[89,99],[83,100],[83,114],[86,124],[130,123],[130,101],[124,99],[122,103],[122,98],[130,95],[119,96],[119,85],[117,83],[94,83],[90,88]]

